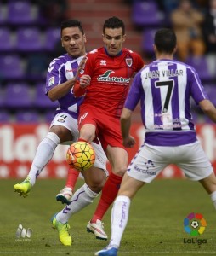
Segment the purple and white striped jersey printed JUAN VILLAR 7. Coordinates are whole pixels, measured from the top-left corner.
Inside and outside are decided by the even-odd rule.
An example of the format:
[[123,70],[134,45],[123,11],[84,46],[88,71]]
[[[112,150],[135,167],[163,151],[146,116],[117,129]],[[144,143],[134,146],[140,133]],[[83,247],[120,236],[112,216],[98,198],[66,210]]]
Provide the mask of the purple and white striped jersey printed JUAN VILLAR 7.
[[190,96],[196,104],[208,99],[195,69],[179,61],[157,60],[135,75],[125,108],[134,110],[140,100],[145,143],[179,146],[196,141]]

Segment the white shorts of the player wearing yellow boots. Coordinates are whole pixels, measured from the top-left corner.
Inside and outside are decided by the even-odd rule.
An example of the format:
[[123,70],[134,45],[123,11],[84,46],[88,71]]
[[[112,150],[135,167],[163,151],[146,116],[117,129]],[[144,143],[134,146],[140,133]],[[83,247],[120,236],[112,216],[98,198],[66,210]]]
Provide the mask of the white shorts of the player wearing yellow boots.
[[[77,139],[79,137],[79,131],[78,131],[78,125],[77,125],[77,119],[74,119],[70,113],[57,113],[54,116],[54,119],[50,125],[49,128],[51,128],[54,125],[60,125],[64,126],[67,128],[69,131],[71,131],[71,134],[73,136],[73,141],[71,142],[65,142],[62,143],[64,145],[71,145],[71,143],[77,142]],[[92,146],[94,148],[95,154],[96,154],[96,159],[94,162],[94,167],[98,167],[100,169],[103,169],[106,173],[106,176],[109,175],[109,172],[106,170],[106,155],[105,152],[101,146],[101,143],[96,144],[92,143]]]

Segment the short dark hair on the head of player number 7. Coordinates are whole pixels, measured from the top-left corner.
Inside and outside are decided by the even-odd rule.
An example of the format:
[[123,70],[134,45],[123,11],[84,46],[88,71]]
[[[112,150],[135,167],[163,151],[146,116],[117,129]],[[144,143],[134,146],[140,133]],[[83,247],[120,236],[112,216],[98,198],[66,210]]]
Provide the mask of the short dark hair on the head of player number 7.
[[156,31],[154,44],[159,52],[172,53],[176,42],[176,35],[172,29],[161,28]]

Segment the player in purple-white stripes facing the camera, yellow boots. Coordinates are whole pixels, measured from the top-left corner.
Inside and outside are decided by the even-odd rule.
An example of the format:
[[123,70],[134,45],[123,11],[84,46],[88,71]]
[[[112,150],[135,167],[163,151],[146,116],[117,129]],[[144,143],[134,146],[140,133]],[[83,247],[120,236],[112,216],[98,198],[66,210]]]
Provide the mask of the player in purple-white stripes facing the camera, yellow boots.
[[[43,138],[43,141],[37,147],[28,176],[22,183],[14,185],[14,191],[24,197],[29,194],[32,186],[36,183],[38,175],[53,157],[55,148],[60,143],[70,145],[76,142],[79,137],[77,116],[82,97],[76,98],[73,96],[71,89],[77,79],[79,68],[82,67],[82,58],[86,55],[86,36],[80,21],[65,20],[62,22],[61,43],[66,53],[51,61],[48,67],[45,87],[45,92],[50,100],[58,100],[60,105],[56,109],[47,136]],[[80,189],[77,189],[74,195],[72,195],[70,189],[65,191],[73,201],[73,203],[69,202],[70,208],[72,208],[71,215],[88,206],[99,195],[108,175],[106,156],[101,144],[93,143],[93,147],[96,153],[94,166],[88,172],[82,172],[86,183]],[[77,171],[69,170],[69,176],[71,172],[79,174]],[[64,193],[62,194],[65,195]],[[54,217],[52,224],[60,233],[60,241],[66,246],[71,246],[72,239],[68,233],[68,225],[64,222],[64,213],[61,219]]]

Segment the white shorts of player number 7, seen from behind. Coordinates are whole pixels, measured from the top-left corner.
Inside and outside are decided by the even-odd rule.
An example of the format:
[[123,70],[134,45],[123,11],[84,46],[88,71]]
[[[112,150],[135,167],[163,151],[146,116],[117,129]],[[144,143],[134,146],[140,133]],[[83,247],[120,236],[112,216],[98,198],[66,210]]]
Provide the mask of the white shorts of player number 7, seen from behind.
[[128,166],[128,176],[151,183],[170,164],[179,166],[185,177],[191,180],[201,180],[213,172],[210,161],[197,141],[177,147],[142,145]]

